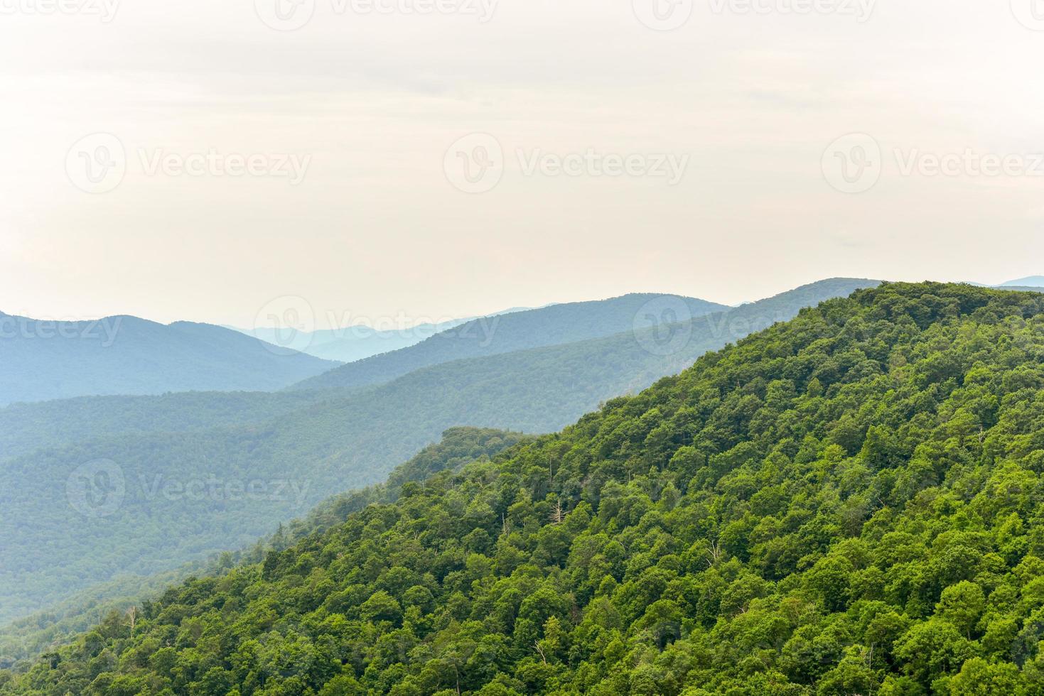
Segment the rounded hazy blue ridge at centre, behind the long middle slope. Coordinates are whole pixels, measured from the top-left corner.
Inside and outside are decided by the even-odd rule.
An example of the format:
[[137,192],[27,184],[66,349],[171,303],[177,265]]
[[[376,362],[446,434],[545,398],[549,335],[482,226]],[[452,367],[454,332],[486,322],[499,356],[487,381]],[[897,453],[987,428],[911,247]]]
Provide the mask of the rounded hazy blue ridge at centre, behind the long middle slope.
[[[692,297],[630,294],[612,299],[551,305],[509,314],[473,319],[435,334],[411,347],[349,363],[305,380],[299,389],[329,389],[383,384],[416,369],[453,360],[574,343],[632,331],[642,320],[643,308],[662,301],[673,309],[654,320],[685,321],[729,308]],[[652,309],[659,309],[659,306]]]

